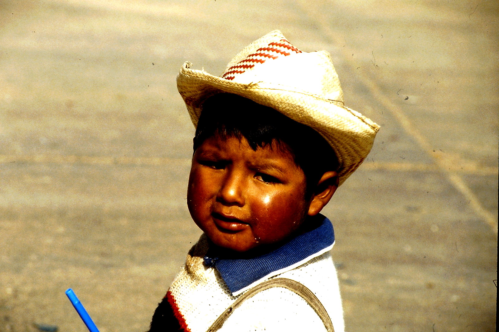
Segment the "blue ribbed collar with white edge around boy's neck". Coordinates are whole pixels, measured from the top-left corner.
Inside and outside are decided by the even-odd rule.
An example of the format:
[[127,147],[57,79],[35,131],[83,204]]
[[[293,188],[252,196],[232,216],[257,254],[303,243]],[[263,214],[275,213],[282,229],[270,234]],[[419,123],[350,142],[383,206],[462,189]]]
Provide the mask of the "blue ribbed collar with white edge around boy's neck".
[[220,249],[210,243],[204,263],[208,267],[215,267],[232,294],[237,296],[260,281],[289,271],[330,250],[334,244],[331,221],[322,215],[314,219],[318,227],[253,258],[224,259]]

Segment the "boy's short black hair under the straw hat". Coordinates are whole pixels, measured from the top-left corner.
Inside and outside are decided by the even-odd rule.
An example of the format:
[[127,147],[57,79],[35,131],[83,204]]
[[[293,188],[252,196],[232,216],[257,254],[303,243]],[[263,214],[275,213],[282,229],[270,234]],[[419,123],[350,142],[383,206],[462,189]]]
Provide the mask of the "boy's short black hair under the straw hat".
[[307,196],[325,172],[338,169],[336,154],[317,131],[238,95],[218,94],[206,100],[194,136],[194,151],[214,135],[222,139],[244,137],[255,151],[269,145],[290,153],[305,174]]

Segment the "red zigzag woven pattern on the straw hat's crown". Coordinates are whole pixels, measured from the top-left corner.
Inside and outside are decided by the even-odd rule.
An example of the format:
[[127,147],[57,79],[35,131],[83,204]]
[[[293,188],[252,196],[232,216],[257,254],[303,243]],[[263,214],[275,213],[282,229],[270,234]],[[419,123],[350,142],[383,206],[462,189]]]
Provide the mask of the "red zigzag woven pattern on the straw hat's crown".
[[271,42],[267,47],[258,48],[254,53],[248,55],[246,59],[228,68],[221,77],[232,81],[237,75],[243,74],[259,63],[264,63],[268,59],[277,59],[280,56],[288,56],[291,53],[301,53],[301,51],[291,45],[286,39],[281,39],[279,42]]

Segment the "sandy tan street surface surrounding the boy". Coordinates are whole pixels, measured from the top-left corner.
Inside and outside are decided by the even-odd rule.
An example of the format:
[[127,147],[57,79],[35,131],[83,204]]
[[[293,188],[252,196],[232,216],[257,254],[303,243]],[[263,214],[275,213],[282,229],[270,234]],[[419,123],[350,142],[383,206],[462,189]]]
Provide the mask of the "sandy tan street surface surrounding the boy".
[[323,212],[347,331],[496,331],[497,1],[0,0],[0,332],[86,331],[69,287],[146,331],[200,235],[176,75],[273,29],[382,126]]

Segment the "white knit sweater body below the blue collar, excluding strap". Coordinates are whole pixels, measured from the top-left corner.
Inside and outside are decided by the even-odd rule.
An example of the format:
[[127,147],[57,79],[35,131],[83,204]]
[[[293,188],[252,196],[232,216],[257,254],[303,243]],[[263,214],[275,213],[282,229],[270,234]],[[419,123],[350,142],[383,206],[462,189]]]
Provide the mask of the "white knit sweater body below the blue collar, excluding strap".
[[[231,292],[215,267],[204,257],[208,241],[203,234],[187,256],[185,265],[172,283],[167,298],[186,331],[206,332],[215,320],[249,288],[265,280],[282,277],[305,285],[328,312],[335,332],[344,331],[338,279],[329,249],[324,248],[299,262],[299,266],[275,271],[242,291]],[[321,252],[323,251],[323,252]],[[295,264],[296,265],[296,264]],[[296,293],[285,288],[264,290],[234,310],[220,332],[326,331],[313,309]]]

